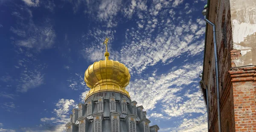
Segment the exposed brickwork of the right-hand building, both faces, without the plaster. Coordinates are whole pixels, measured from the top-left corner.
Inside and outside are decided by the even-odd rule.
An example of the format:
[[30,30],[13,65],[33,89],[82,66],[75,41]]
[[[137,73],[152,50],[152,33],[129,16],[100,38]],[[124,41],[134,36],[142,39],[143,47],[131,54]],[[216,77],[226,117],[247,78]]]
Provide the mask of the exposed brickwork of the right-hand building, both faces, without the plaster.
[[[230,3],[230,1],[233,2]],[[236,8],[234,7],[239,6],[242,10],[246,8],[246,4],[245,6],[241,4],[244,6],[242,7],[241,5],[236,5],[234,1],[239,0],[210,0],[209,3],[209,20],[215,23],[217,31],[221,129],[222,132],[256,132],[256,66],[237,67],[241,66],[241,64],[247,64],[240,60],[250,62],[256,59],[251,59],[250,57],[253,55],[250,56],[248,53],[248,55],[244,56],[244,52],[241,53],[241,50],[233,48],[233,28],[236,27],[232,27],[231,22],[232,15],[236,17],[234,15]],[[253,0],[246,1],[252,2]],[[244,2],[240,1],[240,3]],[[232,8],[230,8],[230,5]],[[245,15],[247,16],[242,17],[252,17],[250,14]],[[226,38],[224,39],[224,37]],[[207,80],[205,83],[207,84],[209,95],[209,129],[210,132],[218,132],[215,58],[213,42],[210,42],[209,39],[210,41],[212,39],[212,27],[210,25],[208,25],[207,30],[205,51],[207,58],[204,58],[204,61],[207,60],[207,62],[204,62],[203,79]],[[256,41],[254,40],[251,43],[253,42],[255,43]],[[255,50],[255,47],[253,50]]]

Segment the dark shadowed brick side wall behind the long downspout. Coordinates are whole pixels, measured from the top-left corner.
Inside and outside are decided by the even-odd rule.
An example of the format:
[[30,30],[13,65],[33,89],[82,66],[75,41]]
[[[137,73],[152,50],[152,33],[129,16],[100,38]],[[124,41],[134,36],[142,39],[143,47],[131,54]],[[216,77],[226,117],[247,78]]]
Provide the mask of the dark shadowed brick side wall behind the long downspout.
[[[209,12],[209,20],[214,22],[217,31],[217,52],[218,52],[218,64],[219,64],[219,89],[220,89],[220,101],[221,101],[221,128],[223,132],[235,131],[235,118],[234,118],[234,102],[233,102],[233,87],[228,71],[231,68],[231,50],[233,49],[232,41],[232,26],[230,15],[230,1],[229,0],[211,0]],[[225,28],[223,27],[225,23]],[[208,25],[207,39],[210,39],[212,35],[212,27]],[[226,44],[224,42],[224,37]],[[210,132],[218,132],[218,112],[217,112],[217,90],[216,90],[216,78],[215,78],[215,57],[213,51],[213,42],[207,43],[207,46],[211,46],[210,56],[208,59],[209,73],[207,87],[209,95],[209,125]],[[208,69],[208,67],[207,67]],[[205,69],[206,70],[206,69]]]

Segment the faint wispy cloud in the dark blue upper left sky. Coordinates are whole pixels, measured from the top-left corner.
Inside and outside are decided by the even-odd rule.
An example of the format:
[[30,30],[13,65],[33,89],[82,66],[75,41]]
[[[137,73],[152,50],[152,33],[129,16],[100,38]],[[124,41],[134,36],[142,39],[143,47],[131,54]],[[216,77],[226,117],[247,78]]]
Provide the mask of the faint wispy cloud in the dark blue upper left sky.
[[[26,0],[30,1],[30,0]],[[11,27],[10,31],[16,34],[18,37],[14,37],[14,42],[20,47],[25,47],[28,49],[36,49],[40,51],[41,49],[52,48],[55,42],[55,31],[53,25],[49,19],[45,19],[41,25],[36,25],[32,20],[32,11],[26,8],[25,10],[20,10],[23,14],[29,16],[27,18],[20,15],[19,11],[13,12],[20,19],[16,27]],[[23,19],[29,19],[29,22],[24,22]]]

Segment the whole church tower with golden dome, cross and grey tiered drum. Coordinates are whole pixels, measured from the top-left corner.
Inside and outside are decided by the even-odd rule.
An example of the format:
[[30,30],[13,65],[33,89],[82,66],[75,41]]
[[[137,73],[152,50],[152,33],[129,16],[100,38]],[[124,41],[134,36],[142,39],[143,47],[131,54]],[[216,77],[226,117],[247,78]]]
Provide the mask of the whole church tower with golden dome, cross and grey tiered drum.
[[108,38],[105,60],[94,62],[84,73],[90,88],[84,104],[73,109],[67,132],[157,132],[157,125],[150,126],[143,106],[132,101],[125,87],[131,75],[124,64],[109,60]]

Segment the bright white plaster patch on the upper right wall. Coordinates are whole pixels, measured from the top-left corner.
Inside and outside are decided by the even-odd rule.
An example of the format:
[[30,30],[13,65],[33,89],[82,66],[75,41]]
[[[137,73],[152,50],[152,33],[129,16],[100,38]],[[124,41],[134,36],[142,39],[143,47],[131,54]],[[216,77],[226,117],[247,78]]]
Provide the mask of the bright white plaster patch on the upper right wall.
[[233,42],[239,44],[244,41],[244,38],[256,32],[256,24],[239,23],[238,20],[233,20]]

